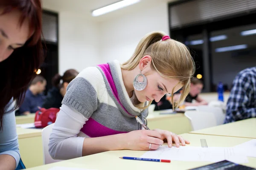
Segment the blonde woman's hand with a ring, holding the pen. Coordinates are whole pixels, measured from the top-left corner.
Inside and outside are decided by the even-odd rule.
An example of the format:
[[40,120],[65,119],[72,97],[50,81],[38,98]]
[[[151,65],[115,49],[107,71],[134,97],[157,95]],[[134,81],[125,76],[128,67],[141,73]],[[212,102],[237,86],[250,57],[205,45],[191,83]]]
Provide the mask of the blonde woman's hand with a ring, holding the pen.
[[163,138],[157,130],[134,130],[125,133],[123,142],[128,150],[156,150],[163,144]]

